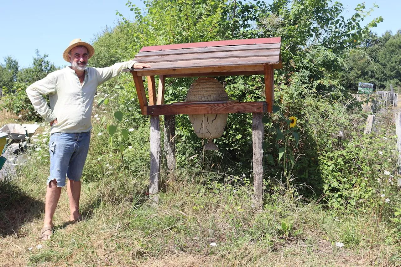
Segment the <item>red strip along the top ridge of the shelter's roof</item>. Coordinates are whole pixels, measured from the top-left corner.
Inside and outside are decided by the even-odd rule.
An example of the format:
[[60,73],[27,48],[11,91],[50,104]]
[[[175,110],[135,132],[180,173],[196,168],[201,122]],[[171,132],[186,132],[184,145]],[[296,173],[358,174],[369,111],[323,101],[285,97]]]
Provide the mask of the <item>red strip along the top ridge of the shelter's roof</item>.
[[281,47],[281,37],[155,45],[150,47],[142,47],[142,49],[139,52],[174,50],[174,49],[185,49],[185,48],[201,48],[201,47],[221,47],[221,46],[243,45],[243,44],[273,44],[273,43],[280,43]]

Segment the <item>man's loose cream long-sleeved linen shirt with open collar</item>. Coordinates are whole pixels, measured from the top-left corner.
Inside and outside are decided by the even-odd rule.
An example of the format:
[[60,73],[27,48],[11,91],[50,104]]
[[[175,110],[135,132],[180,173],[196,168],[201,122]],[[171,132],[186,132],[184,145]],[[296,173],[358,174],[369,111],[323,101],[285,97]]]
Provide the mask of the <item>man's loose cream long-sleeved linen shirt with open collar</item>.
[[[35,110],[47,122],[57,118],[50,133],[81,133],[92,129],[91,114],[96,88],[130,69],[136,61],[115,63],[111,67],[86,68],[83,83],[70,67],[49,73],[45,78],[32,83],[26,93]],[[49,95],[50,107],[43,95]]]

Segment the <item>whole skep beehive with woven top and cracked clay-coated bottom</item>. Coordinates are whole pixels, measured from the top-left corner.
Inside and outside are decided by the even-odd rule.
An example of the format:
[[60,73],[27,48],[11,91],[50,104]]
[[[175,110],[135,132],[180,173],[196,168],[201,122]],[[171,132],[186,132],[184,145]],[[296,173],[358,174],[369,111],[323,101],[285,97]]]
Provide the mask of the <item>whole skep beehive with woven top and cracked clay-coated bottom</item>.
[[[227,101],[228,95],[223,85],[215,78],[198,78],[191,84],[186,95],[188,102]],[[189,120],[199,138],[207,139],[205,150],[217,150],[213,139],[223,135],[227,124],[228,113],[189,114]]]

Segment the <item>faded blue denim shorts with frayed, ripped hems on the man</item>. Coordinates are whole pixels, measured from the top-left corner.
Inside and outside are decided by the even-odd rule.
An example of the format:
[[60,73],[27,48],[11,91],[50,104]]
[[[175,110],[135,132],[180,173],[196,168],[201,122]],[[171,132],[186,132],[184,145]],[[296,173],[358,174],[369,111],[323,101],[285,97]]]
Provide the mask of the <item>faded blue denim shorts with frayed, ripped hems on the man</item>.
[[50,176],[47,184],[56,179],[57,186],[65,186],[65,179],[80,181],[89,150],[91,132],[54,133],[50,136]]

